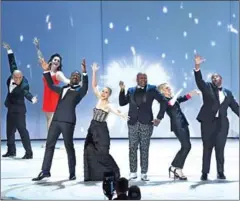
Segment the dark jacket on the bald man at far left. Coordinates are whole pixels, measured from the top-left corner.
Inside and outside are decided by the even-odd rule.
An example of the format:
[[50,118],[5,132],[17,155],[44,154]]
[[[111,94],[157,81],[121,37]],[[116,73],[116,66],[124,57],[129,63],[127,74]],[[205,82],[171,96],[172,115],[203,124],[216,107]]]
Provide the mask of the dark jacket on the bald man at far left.
[[8,108],[8,112],[26,113],[27,110],[24,97],[30,102],[32,102],[33,98],[33,95],[29,92],[28,80],[23,76],[21,84],[16,86],[10,93],[9,86],[12,79],[12,74],[18,68],[13,53],[8,54],[8,61],[11,75],[7,79],[8,94],[4,104]]

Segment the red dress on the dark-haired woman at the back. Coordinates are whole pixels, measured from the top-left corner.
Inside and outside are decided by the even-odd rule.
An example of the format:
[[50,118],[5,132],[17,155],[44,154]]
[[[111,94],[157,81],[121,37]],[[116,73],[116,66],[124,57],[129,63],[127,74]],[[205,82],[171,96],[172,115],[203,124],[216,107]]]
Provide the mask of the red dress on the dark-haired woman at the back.
[[[55,85],[58,85],[60,81],[57,80],[56,75],[52,75],[52,80]],[[52,91],[47,84],[46,79],[43,77],[43,112],[55,112],[59,99],[59,94]]]

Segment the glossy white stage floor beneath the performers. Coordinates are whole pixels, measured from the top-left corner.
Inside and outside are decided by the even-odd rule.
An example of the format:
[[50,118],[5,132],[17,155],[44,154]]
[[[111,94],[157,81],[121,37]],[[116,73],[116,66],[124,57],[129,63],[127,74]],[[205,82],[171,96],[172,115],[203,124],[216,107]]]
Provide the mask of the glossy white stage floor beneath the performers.
[[[23,200],[104,200],[101,182],[83,182],[83,141],[75,141],[77,154],[77,180],[68,181],[67,157],[64,149],[56,149],[52,177],[40,182],[31,179],[38,175],[44,149],[43,141],[32,142],[34,159],[22,160],[24,151],[17,142],[17,157],[1,160],[1,198]],[[57,146],[61,147],[62,141]],[[202,144],[201,140],[192,140],[192,150],[187,158],[184,173],[188,181],[173,181],[168,177],[168,167],[179,143],[175,139],[153,139],[150,147],[149,182],[140,180],[130,184],[138,185],[142,191],[142,200],[239,200],[239,140],[229,139],[225,151],[225,173],[227,180],[216,179],[215,153],[212,155],[209,181],[199,180],[201,173]],[[2,143],[2,153],[6,151],[6,143]],[[112,140],[111,154],[116,159],[122,176],[127,177],[128,140]]]

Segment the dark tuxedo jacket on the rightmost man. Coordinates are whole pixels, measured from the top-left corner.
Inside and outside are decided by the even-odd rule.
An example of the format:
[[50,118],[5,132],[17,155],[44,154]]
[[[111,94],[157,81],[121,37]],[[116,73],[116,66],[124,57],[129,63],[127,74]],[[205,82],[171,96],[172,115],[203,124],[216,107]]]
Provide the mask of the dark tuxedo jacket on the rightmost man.
[[201,71],[194,71],[197,87],[203,95],[203,105],[197,116],[199,122],[212,121],[217,111],[221,118],[227,118],[227,109],[230,107],[232,111],[239,116],[239,105],[233,97],[230,90],[223,88],[225,100],[222,104],[219,102],[218,88],[210,82],[205,82],[202,78]]

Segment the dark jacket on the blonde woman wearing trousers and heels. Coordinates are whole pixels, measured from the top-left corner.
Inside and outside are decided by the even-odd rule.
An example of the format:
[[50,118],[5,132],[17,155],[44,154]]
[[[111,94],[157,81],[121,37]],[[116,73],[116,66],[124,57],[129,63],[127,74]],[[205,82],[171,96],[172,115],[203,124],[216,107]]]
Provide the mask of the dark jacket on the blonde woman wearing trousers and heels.
[[185,128],[189,125],[187,118],[185,117],[184,113],[181,110],[180,103],[185,102],[190,98],[191,97],[188,94],[185,96],[179,96],[174,105],[169,104],[171,98],[166,98],[166,101],[164,101],[164,103],[161,104],[162,113],[166,112],[170,118],[171,131],[176,131],[180,128]]

